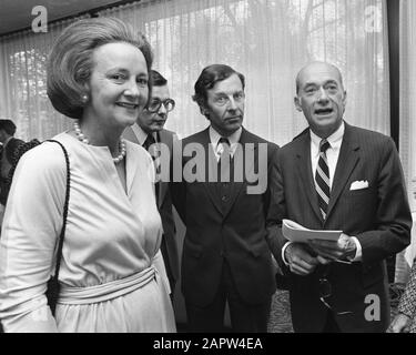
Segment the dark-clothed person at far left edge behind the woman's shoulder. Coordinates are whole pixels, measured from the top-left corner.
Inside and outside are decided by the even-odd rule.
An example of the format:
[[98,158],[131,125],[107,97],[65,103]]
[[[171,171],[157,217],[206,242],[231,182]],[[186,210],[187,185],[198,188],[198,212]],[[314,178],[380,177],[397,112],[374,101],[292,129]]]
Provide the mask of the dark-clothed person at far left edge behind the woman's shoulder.
[[8,176],[13,164],[13,155],[19,145],[23,144],[22,140],[14,138],[16,124],[11,120],[0,120],[0,204],[6,206],[9,195]]

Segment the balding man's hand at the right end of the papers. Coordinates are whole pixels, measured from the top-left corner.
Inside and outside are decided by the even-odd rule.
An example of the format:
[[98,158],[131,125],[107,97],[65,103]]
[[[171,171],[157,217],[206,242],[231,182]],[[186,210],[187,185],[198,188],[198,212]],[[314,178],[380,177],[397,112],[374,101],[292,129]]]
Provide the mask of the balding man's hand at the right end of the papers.
[[334,241],[324,241],[324,240],[312,240],[308,242],[308,245],[312,247],[312,250],[331,261],[336,260],[353,260],[355,257],[357,246],[354,242],[354,240],[346,235],[341,234],[339,239]]

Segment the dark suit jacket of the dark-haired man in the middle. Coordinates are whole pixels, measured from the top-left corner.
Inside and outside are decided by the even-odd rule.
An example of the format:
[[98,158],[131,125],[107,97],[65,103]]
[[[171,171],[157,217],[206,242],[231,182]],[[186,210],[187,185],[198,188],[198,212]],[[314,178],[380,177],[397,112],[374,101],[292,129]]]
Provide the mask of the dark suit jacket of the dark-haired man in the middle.
[[[216,166],[209,129],[184,139],[182,148],[189,143],[201,144],[206,168]],[[248,150],[254,151],[254,160],[245,164],[247,172],[257,169],[258,143],[264,143],[267,152],[263,161],[267,161],[267,168],[260,171],[260,174],[267,181],[275,179],[272,174],[276,169],[273,170],[272,166],[276,162],[277,145],[244,129],[240,143],[243,148],[252,143]],[[243,150],[237,150],[234,161],[241,158],[244,160],[245,156]],[[190,156],[183,156],[182,166],[190,161]],[[250,183],[252,179],[246,179],[248,173],[243,181],[231,183],[224,209],[219,184],[209,182],[209,169],[203,170],[199,181],[175,182],[171,190],[173,203],[186,226],[181,277],[185,300],[196,306],[209,305],[219,291],[226,260],[243,301],[252,305],[267,302],[276,288],[266,239],[266,216],[273,202],[268,184],[261,194],[247,194],[247,186],[256,184]]]

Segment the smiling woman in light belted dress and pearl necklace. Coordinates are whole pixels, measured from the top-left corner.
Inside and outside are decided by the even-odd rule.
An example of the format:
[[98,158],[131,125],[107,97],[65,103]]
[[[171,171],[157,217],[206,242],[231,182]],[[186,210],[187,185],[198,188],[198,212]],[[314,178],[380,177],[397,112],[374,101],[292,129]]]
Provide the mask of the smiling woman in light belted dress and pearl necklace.
[[[26,153],[16,170],[0,248],[6,332],[174,332],[159,246],[153,163],[121,140],[150,94],[152,53],[116,19],[81,20],[58,38],[48,95],[74,119],[54,139],[68,151],[70,200],[55,316],[44,295],[62,227],[65,161],[57,143]],[[165,275],[164,275],[165,278]],[[166,280],[166,278],[165,278]]]

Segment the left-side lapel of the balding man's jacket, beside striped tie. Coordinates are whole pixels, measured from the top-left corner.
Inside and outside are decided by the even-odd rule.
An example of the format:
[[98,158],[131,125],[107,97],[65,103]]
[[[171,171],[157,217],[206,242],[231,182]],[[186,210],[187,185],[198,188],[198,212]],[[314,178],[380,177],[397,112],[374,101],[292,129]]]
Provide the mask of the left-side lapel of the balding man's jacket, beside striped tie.
[[316,216],[322,221],[322,214],[318,207],[316,189],[315,189],[314,178],[312,173],[310,132],[307,132],[302,138],[300,138],[300,140],[301,141],[298,145],[298,150],[296,152],[297,173],[301,176],[303,189],[312,206],[312,210],[314,211]]

